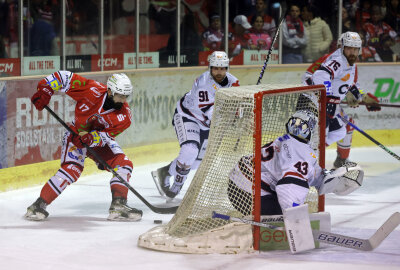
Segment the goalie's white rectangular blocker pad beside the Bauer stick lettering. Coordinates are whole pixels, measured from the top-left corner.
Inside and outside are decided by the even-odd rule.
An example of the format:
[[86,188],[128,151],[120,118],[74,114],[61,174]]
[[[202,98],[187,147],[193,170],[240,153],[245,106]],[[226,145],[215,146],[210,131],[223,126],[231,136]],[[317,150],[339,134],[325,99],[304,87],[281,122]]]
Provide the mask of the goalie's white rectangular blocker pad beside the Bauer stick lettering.
[[307,205],[284,209],[283,220],[292,253],[315,248]]

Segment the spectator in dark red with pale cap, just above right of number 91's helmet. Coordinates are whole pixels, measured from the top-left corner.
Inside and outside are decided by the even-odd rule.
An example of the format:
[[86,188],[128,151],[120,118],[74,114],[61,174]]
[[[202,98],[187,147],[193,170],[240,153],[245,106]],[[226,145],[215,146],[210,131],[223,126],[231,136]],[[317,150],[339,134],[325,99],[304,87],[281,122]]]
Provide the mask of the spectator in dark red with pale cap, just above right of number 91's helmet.
[[246,16],[237,15],[233,19],[233,32],[229,41],[229,55],[234,57],[238,55],[243,49],[247,48],[250,39],[249,29],[250,23],[247,21]]

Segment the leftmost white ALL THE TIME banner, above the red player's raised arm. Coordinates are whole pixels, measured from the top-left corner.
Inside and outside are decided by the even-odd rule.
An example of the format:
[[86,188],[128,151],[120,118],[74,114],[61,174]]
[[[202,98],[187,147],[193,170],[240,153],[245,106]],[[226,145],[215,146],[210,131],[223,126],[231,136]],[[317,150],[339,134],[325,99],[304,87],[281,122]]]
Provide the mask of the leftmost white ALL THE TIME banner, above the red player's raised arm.
[[60,70],[60,56],[24,57],[23,75],[44,75]]

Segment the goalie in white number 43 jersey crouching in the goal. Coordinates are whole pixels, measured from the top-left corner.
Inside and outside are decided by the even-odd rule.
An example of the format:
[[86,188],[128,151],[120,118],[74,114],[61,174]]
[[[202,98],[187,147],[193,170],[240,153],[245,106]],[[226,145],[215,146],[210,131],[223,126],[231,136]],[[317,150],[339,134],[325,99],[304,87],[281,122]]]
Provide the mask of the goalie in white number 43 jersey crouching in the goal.
[[[361,186],[364,173],[358,166],[323,170],[309,145],[316,124],[313,113],[300,110],[286,123],[287,134],[261,149],[261,215],[279,215],[282,209],[305,202],[310,186],[320,195],[333,192],[346,195]],[[228,197],[243,215],[251,214],[253,194],[253,155],[243,156],[229,174]],[[356,172],[351,179],[347,171]]]

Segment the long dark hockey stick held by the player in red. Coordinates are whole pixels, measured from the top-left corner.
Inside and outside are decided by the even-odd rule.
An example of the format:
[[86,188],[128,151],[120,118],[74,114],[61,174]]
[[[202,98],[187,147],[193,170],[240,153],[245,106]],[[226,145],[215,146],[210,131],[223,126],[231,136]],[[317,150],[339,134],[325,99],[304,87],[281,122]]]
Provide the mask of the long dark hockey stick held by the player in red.
[[[71,134],[77,135],[58,115],[50,109],[48,106],[44,107],[61,125],[63,125]],[[158,214],[174,214],[176,210],[178,209],[178,206],[174,207],[157,207],[152,204],[150,204],[142,195],[140,195],[139,192],[137,192],[125,179],[123,179],[114,169],[104,161],[97,153],[94,151],[92,148],[90,148],[87,144],[83,143],[85,148],[92,154],[96,160],[103,165],[105,168],[108,169],[115,177],[118,178],[118,180],[124,184],[130,191],[132,191],[133,194],[136,195],[147,207],[149,207],[153,212],[158,213]]]

